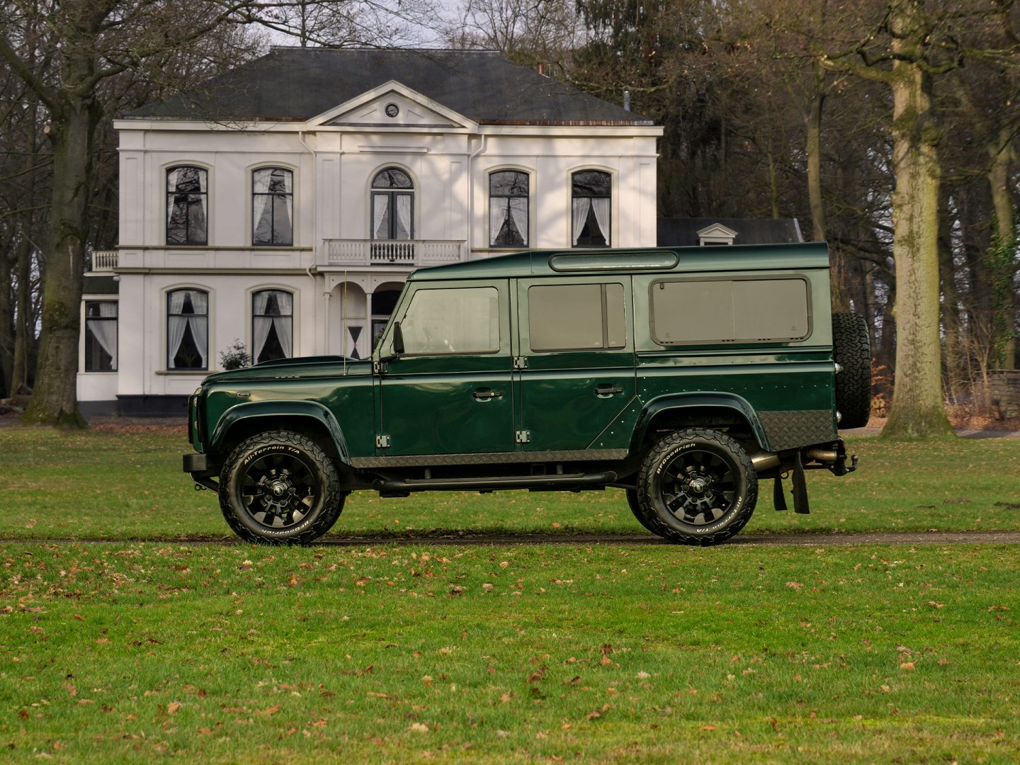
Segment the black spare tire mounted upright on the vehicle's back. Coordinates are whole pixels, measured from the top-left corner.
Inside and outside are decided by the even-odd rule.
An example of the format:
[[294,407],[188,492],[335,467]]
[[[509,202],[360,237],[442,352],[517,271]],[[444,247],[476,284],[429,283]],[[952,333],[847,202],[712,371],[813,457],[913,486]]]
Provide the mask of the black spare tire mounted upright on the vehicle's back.
[[871,341],[864,316],[832,314],[832,357],[843,367],[835,375],[839,427],[864,427],[871,417]]

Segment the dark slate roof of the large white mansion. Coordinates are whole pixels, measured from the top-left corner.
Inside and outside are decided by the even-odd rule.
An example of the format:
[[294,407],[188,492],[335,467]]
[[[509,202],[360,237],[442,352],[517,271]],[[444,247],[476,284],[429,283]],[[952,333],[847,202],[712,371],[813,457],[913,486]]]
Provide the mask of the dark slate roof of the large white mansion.
[[125,116],[304,120],[391,80],[481,123],[652,124],[492,51],[367,48],[273,48]]

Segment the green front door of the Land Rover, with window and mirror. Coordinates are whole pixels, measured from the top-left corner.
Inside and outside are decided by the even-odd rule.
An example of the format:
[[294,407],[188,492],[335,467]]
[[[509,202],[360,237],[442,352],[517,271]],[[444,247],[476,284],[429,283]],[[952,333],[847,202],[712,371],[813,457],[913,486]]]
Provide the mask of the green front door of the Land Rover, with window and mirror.
[[[384,457],[512,452],[506,279],[413,285],[395,313],[404,353],[379,378]],[[393,327],[379,345],[390,354]],[[378,353],[376,354],[378,358]]]

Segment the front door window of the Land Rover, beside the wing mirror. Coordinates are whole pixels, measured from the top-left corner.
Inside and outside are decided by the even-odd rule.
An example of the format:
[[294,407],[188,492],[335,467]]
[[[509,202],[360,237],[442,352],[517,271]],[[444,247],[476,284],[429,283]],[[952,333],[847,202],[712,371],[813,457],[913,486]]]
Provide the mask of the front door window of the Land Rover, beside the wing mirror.
[[407,355],[497,353],[499,291],[495,287],[418,290],[400,328]]

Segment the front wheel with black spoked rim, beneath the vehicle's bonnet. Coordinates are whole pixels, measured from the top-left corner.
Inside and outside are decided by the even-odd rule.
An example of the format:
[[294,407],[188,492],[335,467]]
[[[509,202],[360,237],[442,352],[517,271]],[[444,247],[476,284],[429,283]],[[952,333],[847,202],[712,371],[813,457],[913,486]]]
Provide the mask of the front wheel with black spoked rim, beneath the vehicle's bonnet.
[[[280,490],[276,502],[270,484]],[[291,430],[268,430],[242,442],[219,475],[219,507],[227,524],[241,539],[262,545],[307,545],[318,539],[337,522],[346,497],[333,460],[307,436]],[[264,510],[270,505],[289,505],[291,511],[283,514],[291,522]]]

